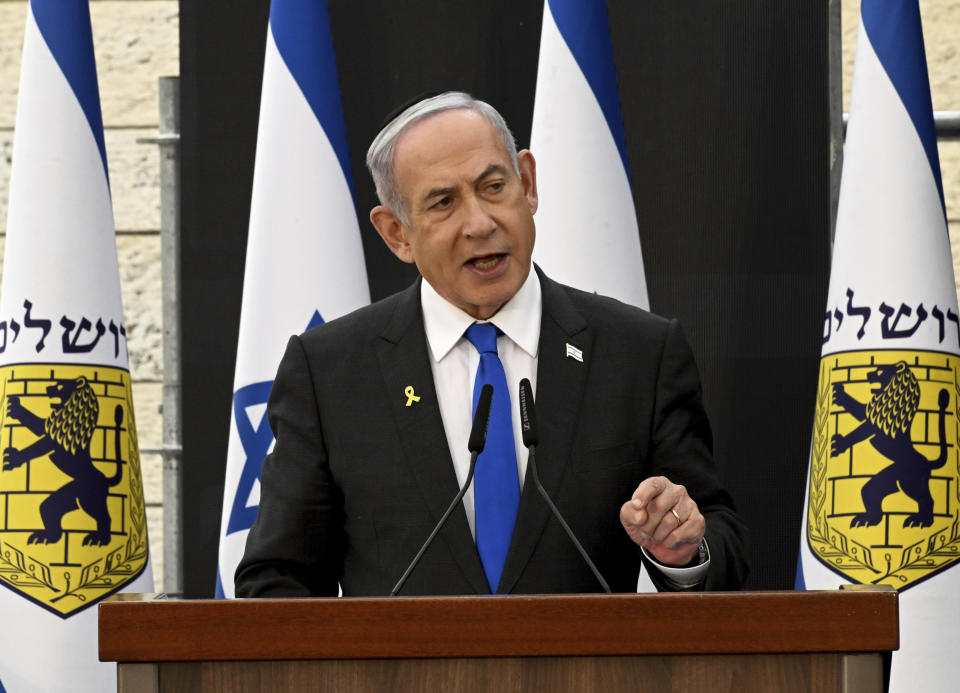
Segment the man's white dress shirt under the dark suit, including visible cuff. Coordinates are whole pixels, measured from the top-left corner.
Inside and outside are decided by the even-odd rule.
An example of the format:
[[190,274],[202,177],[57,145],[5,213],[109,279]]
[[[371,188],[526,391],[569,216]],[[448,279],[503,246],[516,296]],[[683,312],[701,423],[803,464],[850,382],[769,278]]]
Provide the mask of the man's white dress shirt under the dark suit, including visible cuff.
[[[520,433],[520,381],[530,380],[534,398],[537,392],[537,350],[540,344],[540,319],[543,314],[543,296],[540,278],[530,271],[520,290],[514,294],[489,321],[478,321],[447,301],[426,280],[420,282],[420,302],[423,306],[423,326],[430,347],[430,370],[437,391],[437,403],[443,430],[450,446],[450,457],[462,487],[470,470],[467,441],[473,423],[473,382],[480,363],[480,353],[464,332],[474,322],[491,322],[503,333],[497,337],[497,353],[503,363],[510,389],[510,411],[513,418],[513,440],[517,450],[517,477],[520,488],[527,471],[527,448]],[[624,498],[626,502],[628,498]],[[470,532],[476,539],[473,484],[463,496]],[[617,512],[617,508],[611,508]],[[679,587],[689,587],[706,575],[709,558],[692,568],[674,568],[650,558],[669,580]]]

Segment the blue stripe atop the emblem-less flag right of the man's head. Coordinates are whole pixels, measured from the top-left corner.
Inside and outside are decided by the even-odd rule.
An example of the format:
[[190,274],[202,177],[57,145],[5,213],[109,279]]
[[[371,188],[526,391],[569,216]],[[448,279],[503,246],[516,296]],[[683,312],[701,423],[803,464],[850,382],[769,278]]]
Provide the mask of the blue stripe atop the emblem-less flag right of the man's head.
[[607,119],[613,141],[617,144],[623,168],[630,179],[627,164],[627,141],[620,113],[617,73],[613,64],[613,44],[607,5],[604,0],[548,0],[560,35],[573,53],[577,65],[593,90],[600,109]]

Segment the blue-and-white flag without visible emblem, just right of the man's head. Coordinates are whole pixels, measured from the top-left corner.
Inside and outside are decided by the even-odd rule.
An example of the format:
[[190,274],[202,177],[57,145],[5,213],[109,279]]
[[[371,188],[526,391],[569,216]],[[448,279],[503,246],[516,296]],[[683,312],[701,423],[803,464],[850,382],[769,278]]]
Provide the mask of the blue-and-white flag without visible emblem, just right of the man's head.
[[530,151],[533,259],[578,289],[649,307],[604,0],[546,0]]

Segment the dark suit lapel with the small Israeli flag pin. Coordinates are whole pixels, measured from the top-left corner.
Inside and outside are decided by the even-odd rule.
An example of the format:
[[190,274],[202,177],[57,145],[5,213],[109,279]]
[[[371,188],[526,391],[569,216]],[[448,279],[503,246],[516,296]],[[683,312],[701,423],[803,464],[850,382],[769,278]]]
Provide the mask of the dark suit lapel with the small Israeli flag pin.
[[[540,346],[537,354],[537,470],[551,498],[560,488],[573,445],[590,365],[593,335],[566,291],[537,269],[543,294]],[[567,345],[583,353],[583,361],[567,356]],[[530,561],[550,518],[550,509],[533,484],[529,467],[520,497],[517,525],[498,592],[509,593]]]

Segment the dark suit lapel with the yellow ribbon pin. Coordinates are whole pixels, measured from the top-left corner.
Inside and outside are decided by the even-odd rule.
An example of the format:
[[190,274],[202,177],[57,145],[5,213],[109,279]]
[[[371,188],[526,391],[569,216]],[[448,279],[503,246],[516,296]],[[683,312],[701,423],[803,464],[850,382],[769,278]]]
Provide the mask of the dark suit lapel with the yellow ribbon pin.
[[[397,310],[377,343],[377,357],[406,463],[434,522],[438,522],[459,486],[443,430],[440,405],[430,370],[420,307],[420,282],[400,294]],[[420,399],[407,406],[408,388]],[[490,589],[466,515],[454,511],[442,539],[478,594]],[[422,542],[426,536],[416,538]]]

